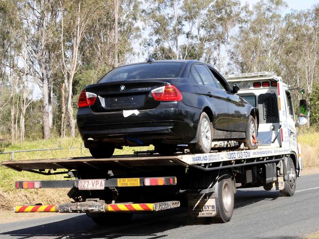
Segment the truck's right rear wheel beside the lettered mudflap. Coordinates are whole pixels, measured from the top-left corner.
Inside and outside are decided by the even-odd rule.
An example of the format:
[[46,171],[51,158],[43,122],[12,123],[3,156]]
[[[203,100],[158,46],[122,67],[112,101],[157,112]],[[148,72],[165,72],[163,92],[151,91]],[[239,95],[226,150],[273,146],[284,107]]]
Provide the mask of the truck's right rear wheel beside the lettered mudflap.
[[217,209],[215,219],[219,222],[228,222],[234,211],[234,184],[228,172],[227,176],[218,179]]

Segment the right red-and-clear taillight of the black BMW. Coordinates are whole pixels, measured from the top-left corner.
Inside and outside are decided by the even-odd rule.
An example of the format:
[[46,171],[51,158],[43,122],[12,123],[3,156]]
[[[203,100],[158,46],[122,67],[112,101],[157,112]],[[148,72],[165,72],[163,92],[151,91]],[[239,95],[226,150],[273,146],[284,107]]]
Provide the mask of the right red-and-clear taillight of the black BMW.
[[166,85],[151,91],[155,100],[159,101],[180,101],[181,91],[174,85]]

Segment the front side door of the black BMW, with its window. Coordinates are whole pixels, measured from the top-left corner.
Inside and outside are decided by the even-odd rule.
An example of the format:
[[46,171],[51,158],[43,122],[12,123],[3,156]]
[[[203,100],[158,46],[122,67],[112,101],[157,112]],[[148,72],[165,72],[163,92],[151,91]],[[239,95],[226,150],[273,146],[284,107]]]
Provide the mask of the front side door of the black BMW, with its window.
[[224,91],[227,99],[228,123],[232,131],[246,131],[247,118],[250,112],[245,111],[245,101],[233,94],[226,80],[213,68],[210,68],[217,86]]

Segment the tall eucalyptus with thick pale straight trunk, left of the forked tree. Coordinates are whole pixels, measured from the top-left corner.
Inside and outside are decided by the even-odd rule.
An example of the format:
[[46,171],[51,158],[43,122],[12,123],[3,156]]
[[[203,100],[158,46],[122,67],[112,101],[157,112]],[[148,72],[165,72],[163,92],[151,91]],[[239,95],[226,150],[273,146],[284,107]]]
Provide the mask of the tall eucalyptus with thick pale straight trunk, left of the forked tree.
[[44,139],[48,139],[53,124],[53,72],[57,69],[59,5],[55,0],[26,0],[19,2],[18,6],[27,38],[27,67],[42,92],[43,134]]

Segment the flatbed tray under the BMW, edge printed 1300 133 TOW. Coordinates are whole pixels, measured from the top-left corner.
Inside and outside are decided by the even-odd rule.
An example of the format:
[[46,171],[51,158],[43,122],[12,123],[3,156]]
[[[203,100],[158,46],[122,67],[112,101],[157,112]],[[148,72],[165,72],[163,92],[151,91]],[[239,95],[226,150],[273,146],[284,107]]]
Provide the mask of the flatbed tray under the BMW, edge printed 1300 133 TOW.
[[[95,159],[92,157],[40,159],[6,161],[1,165],[18,171],[45,170],[45,169],[84,169],[93,167],[96,169],[113,167],[162,167],[202,165],[231,161],[233,164],[245,163],[254,159],[256,163],[274,160],[275,156],[289,154],[289,148],[258,148],[253,150],[220,151],[206,154],[176,154],[172,156],[134,156],[118,155],[107,159]],[[251,162],[250,162],[251,163]]]

